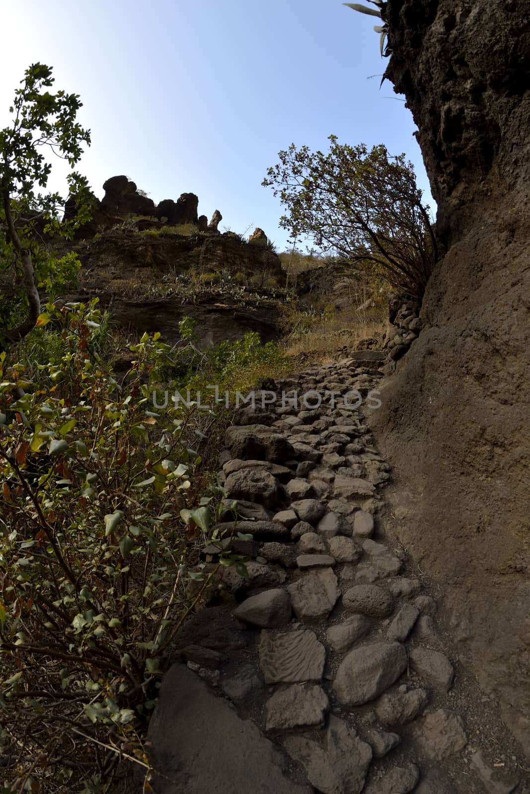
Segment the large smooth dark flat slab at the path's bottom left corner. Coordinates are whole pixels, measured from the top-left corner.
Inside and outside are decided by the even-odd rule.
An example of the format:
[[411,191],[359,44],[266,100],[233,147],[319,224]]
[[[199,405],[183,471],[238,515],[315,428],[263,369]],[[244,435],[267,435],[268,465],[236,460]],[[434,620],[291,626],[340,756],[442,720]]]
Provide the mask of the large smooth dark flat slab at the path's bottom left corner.
[[[252,720],[184,665],[164,676],[148,733],[157,794],[310,794]],[[138,789],[140,790],[140,789]]]

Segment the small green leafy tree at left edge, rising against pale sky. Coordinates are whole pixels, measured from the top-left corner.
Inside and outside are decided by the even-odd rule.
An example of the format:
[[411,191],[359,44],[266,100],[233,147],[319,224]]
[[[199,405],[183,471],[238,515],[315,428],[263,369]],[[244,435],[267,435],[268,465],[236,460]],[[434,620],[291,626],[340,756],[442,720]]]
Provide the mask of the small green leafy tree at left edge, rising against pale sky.
[[47,186],[52,170],[44,149],[74,168],[83,152],[81,144],[91,142],[90,131],[75,121],[82,106],[79,96],[64,91],[51,94],[51,75],[52,69],[44,64],[25,71],[10,107],[13,121],[0,130],[0,229],[5,233],[0,242],[0,277],[5,296],[10,295],[2,306],[3,344],[20,341],[36,325],[41,312],[38,287],[48,292],[60,288],[79,265],[73,252],[55,256],[48,249],[49,239],[71,237],[90,218],[87,181],[76,172],[68,175],[78,210],[75,222],[60,223],[64,198],[58,193],[36,192]]

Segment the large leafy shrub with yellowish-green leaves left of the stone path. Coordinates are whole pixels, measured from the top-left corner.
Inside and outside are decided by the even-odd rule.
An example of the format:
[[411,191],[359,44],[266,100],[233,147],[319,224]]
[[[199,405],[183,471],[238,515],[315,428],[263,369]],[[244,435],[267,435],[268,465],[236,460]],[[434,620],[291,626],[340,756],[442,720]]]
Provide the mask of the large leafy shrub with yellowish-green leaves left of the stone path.
[[[176,633],[214,575],[199,541],[222,494],[201,448],[222,415],[152,410],[167,351],[158,334],[141,338],[118,383],[97,352],[102,319],[95,303],[48,306],[38,325],[59,326],[62,355],[37,364],[33,381],[0,355],[6,794],[87,794],[102,781],[108,791],[122,752],[149,777],[141,735]],[[230,352],[219,360],[228,366]],[[221,564],[244,572],[240,557]]]

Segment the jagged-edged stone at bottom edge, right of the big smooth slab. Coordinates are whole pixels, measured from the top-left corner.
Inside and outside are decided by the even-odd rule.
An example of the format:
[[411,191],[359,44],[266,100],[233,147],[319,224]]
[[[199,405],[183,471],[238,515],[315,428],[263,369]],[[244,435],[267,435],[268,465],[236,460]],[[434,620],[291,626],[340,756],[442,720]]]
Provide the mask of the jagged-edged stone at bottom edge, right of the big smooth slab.
[[372,750],[353,727],[331,715],[322,742],[289,736],[284,747],[305,769],[310,783],[323,794],[360,794]]

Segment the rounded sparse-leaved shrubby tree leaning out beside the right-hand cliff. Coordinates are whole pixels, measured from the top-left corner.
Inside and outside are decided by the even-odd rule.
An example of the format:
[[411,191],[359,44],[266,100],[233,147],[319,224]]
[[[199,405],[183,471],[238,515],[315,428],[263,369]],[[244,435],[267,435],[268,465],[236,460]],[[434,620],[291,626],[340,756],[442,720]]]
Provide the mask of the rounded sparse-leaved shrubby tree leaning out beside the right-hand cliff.
[[383,145],[329,140],[327,154],[292,144],[269,168],[263,184],[288,210],[280,226],[294,240],[311,237],[323,252],[383,268],[393,287],[421,298],[437,249],[412,163]]

